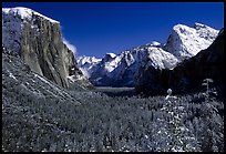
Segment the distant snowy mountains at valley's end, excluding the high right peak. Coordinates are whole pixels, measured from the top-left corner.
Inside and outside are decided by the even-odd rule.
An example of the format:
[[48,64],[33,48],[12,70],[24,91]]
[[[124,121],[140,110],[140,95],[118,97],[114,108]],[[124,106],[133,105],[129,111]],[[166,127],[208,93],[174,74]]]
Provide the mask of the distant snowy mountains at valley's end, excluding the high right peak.
[[[153,65],[156,69],[172,69],[178,62],[177,59],[161,48],[161,43],[152,43],[135,47],[120,54],[106,53],[102,60],[94,58],[78,59],[81,70],[94,85],[104,86],[133,86],[137,69]],[[91,62],[92,61],[92,62]]]

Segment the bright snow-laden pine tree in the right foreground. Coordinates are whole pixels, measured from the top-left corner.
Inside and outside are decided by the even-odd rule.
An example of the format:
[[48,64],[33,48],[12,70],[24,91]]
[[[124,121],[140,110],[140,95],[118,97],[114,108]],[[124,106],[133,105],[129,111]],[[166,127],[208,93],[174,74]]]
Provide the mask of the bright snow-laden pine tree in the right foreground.
[[[168,93],[168,91],[167,91]],[[191,134],[183,123],[185,113],[184,106],[179,106],[177,97],[171,95],[172,91],[166,96],[166,103],[163,106],[170,117],[168,130],[171,133],[170,152],[196,152],[199,151],[197,140],[194,134]]]

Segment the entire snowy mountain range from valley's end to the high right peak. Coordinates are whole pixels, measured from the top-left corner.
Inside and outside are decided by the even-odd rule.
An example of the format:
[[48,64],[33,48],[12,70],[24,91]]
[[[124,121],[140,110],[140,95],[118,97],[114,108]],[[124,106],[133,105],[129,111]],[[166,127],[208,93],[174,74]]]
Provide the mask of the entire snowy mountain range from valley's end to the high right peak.
[[[178,62],[208,48],[217,34],[218,30],[201,23],[195,23],[194,28],[176,24],[165,44],[152,41],[117,55],[107,53],[95,62],[83,57],[78,60],[79,66],[94,85],[134,86],[143,70],[150,66],[172,70]],[[82,60],[88,63],[82,64]]]

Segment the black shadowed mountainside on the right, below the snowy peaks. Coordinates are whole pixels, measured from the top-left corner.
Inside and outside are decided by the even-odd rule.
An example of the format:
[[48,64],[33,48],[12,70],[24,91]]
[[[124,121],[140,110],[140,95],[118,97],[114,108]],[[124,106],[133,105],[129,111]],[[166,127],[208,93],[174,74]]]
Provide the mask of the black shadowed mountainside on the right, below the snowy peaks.
[[150,94],[165,94],[171,88],[174,93],[192,92],[202,88],[204,79],[213,79],[216,88],[224,91],[224,30],[206,50],[183,61],[173,70],[142,71],[136,91]]

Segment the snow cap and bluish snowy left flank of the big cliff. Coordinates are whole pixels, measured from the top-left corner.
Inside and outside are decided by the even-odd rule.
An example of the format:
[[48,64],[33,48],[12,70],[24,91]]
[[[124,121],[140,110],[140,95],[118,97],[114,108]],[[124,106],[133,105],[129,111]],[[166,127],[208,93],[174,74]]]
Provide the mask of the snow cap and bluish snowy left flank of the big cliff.
[[[52,23],[59,23],[45,16],[23,7],[2,8],[2,45],[9,51],[19,52],[21,50],[22,30],[27,21],[33,20],[33,14],[39,16]],[[31,28],[34,34],[39,35],[40,30],[32,22]]]

